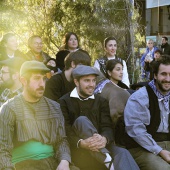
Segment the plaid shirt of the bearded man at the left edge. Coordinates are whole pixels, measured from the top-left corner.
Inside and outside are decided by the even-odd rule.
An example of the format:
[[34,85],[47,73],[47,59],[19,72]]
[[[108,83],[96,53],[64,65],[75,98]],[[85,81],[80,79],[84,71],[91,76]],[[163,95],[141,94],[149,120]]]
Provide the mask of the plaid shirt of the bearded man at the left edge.
[[22,93],[22,87],[16,90],[15,92],[12,92],[10,89],[6,88],[0,95],[0,107],[8,100],[13,98],[14,96]]

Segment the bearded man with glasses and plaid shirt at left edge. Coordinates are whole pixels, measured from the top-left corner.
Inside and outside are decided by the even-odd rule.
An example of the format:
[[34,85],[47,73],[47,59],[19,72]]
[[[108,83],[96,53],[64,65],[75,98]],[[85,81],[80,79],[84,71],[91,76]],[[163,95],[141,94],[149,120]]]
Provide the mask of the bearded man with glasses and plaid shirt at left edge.
[[24,59],[18,57],[0,61],[0,88],[4,89],[0,94],[0,106],[22,92],[19,70],[24,61]]

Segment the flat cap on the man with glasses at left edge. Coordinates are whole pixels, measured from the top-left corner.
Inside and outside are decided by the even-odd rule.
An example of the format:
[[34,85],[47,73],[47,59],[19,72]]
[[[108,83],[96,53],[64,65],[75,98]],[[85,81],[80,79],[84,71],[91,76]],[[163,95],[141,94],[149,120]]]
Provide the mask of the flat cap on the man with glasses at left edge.
[[25,62],[26,60],[21,58],[21,57],[13,57],[13,58],[8,58],[6,60],[0,61],[0,66],[8,66],[11,69],[14,69],[16,71],[19,71],[21,68],[21,65]]

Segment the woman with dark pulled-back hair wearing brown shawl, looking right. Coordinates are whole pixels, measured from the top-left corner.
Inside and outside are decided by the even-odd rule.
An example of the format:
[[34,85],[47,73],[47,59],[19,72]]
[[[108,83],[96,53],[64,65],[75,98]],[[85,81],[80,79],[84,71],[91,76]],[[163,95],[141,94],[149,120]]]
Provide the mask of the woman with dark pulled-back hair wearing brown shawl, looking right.
[[124,114],[124,108],[130,96],[129,92],[122,88],[127,87],[121,82],[123,76],[122,70],[122,62],[116,59],[108,60],[106,63],[106,71],[109,79],[104,78],[98,82],[94,91],[94,94],[100,94],[100,96],[108,100],[114,130],[117,120]]

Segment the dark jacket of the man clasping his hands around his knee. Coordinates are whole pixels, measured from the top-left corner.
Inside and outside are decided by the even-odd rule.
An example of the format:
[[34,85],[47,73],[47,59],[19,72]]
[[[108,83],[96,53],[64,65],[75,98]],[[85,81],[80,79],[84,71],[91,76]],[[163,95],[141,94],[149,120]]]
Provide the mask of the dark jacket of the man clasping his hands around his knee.
[[87,116],[93,123],[98,133],[113,141],[112,120],[110,117],[108,101],[99,95],[95,99],[80,100],[70,97],[67,93],[59,100],[66,124],[66,134],[72,147],[77,147],[79,137],[71,129],[74,121],[79,116]]

